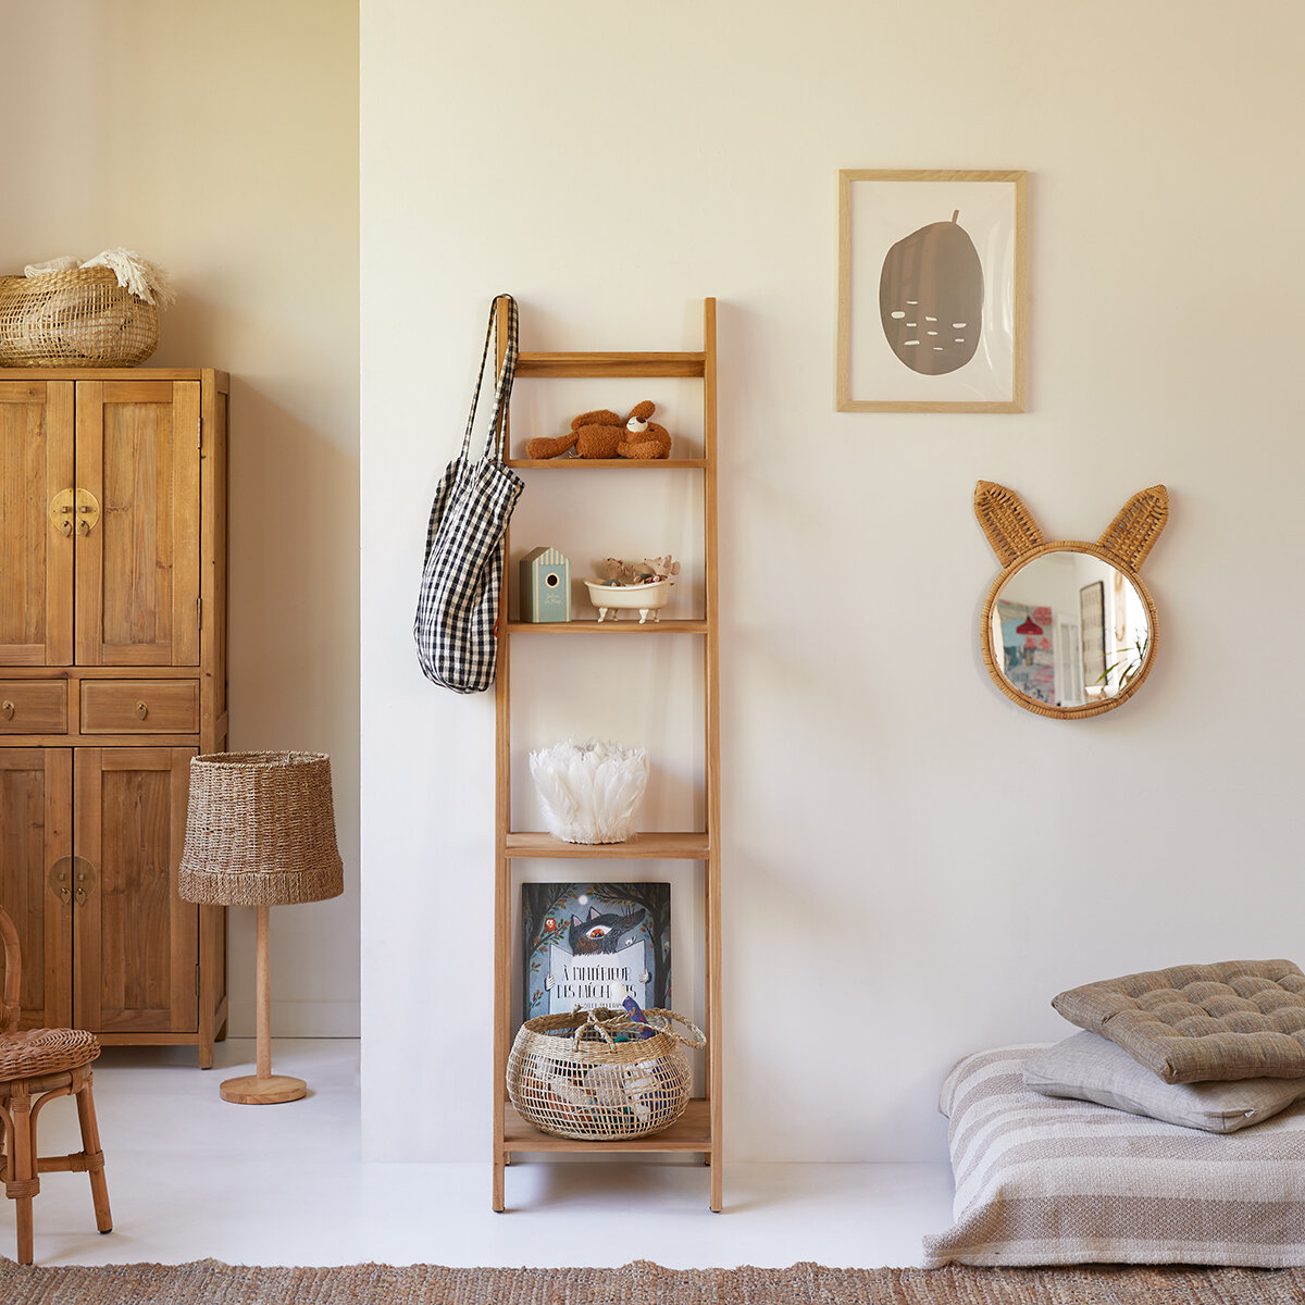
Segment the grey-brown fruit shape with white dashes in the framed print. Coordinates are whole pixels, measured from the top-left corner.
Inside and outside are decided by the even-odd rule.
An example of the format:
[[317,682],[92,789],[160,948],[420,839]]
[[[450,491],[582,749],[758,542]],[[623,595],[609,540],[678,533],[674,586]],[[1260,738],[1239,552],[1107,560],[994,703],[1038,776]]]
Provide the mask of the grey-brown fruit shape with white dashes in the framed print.
[[983,328],[983,264],[964,227],[930,222],[887,252],[880,320],[889,347],[912,372],[945,376],[964,367]]

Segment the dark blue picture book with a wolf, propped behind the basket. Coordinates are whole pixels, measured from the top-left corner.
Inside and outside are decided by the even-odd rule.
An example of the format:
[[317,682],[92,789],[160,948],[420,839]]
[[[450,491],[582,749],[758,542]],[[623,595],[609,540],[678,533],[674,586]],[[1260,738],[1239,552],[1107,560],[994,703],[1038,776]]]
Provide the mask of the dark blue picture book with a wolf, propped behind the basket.
[[522,1019],[671,1002],[669,883],[522,883]]

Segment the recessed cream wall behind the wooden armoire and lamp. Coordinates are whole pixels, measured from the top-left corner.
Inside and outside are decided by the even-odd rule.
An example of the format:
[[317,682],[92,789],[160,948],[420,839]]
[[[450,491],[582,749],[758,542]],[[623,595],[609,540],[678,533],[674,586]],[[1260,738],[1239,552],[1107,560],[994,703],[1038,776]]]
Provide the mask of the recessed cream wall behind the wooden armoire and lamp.
[[[358,1032],[358,7],[7,5],[0,269],[127,245],[231,373],[231,746],[329,752],[345,897],[273,912],[277,1035]],[[253,1032],[253,912],[231,912]]]

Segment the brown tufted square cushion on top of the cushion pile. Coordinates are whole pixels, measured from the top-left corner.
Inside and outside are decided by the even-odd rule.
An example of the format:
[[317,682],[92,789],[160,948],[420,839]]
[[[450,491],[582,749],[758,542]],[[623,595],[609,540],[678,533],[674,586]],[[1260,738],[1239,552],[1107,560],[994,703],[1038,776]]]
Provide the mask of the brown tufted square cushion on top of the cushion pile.
[[1289,960],[1151,970],[1052,1005],[1167,1083],[1305,1078],[1305,975]]

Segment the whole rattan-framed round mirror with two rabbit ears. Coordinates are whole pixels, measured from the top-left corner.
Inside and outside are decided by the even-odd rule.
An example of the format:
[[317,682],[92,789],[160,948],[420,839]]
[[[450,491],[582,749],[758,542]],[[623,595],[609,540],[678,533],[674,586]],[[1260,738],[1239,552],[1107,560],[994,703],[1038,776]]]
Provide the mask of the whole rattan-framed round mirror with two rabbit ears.
[[979,622],[984,666],[1026,711],[1060,720],[1126,702],[1155,660],[1155,603],[1138,576],[1169,514],[1164,485],[1135,493],[1095,543],[1047,543],[1019,496],[975,485],[975,515],[1004,570]]

